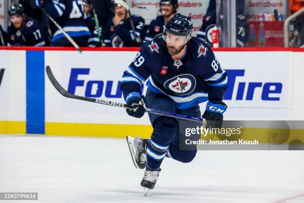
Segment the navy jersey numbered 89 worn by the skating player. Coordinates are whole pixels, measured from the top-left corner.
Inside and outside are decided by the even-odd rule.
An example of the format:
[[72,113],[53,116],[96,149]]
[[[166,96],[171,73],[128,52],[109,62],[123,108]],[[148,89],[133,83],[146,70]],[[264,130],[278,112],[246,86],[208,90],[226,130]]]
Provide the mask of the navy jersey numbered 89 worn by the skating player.
[[185,55],[176,61],[161,37],[143,46],[122,76],[124,99],[141,93],[147,79],[152,92],[171,98],[180,109],[208,100],[222,102],[228,84],[227,72],[211,48],[197,37],[191,38]]

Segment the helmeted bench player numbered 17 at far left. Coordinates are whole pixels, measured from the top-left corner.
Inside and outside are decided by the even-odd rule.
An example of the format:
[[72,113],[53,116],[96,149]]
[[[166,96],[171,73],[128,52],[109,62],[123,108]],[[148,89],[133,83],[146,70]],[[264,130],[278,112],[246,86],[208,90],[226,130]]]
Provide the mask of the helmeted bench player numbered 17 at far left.
[[26,16],[21,4],[12,4],[8,10],[11,25],[7,28],[8,46],[44,46],[46,33],[38,20]]

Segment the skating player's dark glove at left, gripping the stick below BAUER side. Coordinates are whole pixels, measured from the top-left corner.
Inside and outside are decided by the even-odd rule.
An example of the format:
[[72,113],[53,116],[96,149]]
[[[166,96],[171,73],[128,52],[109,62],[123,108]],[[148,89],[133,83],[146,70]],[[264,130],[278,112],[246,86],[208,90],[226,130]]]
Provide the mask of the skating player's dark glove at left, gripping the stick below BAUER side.
[[141,98],[138,97],[131,97],[130,99],[127,100],[127,104],[131,106],[131,109],[127,109],[128,115],[131,115],[136,118],[142,117],[146,110],[144,107],[144,96]]

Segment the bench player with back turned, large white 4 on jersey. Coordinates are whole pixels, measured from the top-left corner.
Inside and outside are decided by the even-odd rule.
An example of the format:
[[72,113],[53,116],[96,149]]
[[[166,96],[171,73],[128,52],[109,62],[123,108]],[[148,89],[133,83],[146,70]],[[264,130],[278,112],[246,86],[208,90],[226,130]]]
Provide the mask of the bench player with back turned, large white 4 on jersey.
[[[43,0],[41,7],[51,15],[79,46],[87,46],[91,36],[84,22],[82,0]],[[73,46],[65,35],[57,29],[53,33],[53,46]]]

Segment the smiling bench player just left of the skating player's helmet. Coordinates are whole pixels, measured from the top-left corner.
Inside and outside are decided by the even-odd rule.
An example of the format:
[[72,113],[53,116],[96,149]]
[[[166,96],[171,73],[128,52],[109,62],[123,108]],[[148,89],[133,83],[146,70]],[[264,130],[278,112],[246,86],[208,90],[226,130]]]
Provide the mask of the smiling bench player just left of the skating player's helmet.
[[177,0],[160,0],[159,11],[161,15],[157,16],[156,19],[150,22],[149,30],[145,37],[144,43],[148,43],[154,38],[161,37],[163,26],[174,16],[177,8]]

